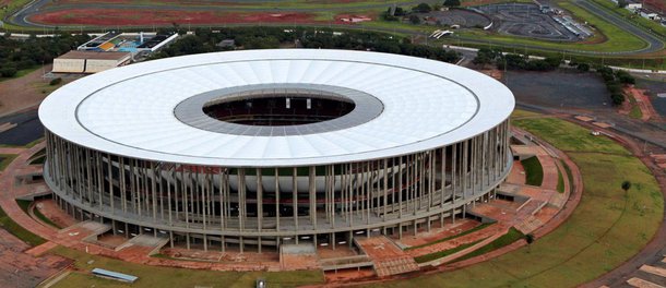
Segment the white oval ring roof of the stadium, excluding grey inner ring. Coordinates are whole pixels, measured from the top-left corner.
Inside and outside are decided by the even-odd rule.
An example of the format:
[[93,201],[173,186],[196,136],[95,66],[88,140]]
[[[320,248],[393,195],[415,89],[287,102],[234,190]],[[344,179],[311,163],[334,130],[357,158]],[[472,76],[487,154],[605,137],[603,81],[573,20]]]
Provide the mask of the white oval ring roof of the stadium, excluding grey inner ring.
[[[383,111],[337,131],[249,136],[205,131],[174,115],[202,93],[255,84],[319,84],[367,93]],[[306,166],[440,147],[504,121],[513,94],[481,73],[399,55],[313,49],[175,57],[86,76],[49,95],[39,119],[80,145],[129,157],[213,166]]]

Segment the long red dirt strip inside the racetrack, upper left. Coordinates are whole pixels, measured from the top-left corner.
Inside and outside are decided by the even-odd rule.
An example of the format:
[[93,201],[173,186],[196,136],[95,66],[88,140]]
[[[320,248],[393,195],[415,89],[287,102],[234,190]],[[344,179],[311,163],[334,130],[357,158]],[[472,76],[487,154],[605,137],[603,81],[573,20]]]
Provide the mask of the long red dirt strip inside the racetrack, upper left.
[[[94,15],[94,16],[91,16]],[[212,11],[72,9],[34,15],[31,21],[44,24],[80,25],[152,25],[215,23],[316,23],[309,13],[225,13]]]

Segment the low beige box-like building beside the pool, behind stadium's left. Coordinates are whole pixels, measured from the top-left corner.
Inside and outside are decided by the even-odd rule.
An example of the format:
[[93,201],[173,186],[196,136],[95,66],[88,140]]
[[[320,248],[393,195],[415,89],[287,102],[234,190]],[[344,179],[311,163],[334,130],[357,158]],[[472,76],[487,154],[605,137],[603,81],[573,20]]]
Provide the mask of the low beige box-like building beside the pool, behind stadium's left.
[[53,73],[97,73],[130,63],[130,52],[69,51],[53,59]]

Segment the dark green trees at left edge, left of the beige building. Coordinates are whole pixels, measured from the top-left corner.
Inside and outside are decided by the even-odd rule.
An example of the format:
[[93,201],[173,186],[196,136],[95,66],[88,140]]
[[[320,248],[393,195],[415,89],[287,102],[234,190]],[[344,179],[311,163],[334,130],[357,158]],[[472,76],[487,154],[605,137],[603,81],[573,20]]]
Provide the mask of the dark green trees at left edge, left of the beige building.
[[36,37],[25,40],[0,36],[0,76],[12,77],[19,70],[50,63],[53,58],[90,40],[88,35],[58,33],[56,37]]

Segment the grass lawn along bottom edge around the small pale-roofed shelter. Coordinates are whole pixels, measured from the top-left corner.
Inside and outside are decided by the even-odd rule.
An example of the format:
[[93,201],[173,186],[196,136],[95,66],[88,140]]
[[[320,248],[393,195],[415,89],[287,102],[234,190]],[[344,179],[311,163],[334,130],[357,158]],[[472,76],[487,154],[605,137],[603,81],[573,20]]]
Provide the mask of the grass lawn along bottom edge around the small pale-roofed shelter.
[[[58,281],[57,287],[130,287],[114,280],[102,279],[84,272],[105,268],[139,277],[131,287],[254,287],[263,277],[269,287],[294,287],[306,284],[323,284],[321,271],[301,272],[214,272],[186,268],[156,267],[128,263],[115,259],[86,254],[82,251],[58,247],[52,253],[75,260],[78,272]],[[92,264],[87,264],[93,261]]]

